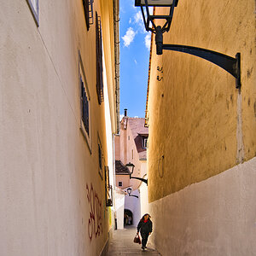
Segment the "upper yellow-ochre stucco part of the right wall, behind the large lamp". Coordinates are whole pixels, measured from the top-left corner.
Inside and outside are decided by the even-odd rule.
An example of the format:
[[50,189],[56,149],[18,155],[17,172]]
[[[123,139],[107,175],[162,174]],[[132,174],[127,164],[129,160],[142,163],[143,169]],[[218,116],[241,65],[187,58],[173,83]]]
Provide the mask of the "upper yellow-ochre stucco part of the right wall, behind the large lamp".
[[[212,49],[233,57],[241,52],[241,94],[236,79],[220,67],[167,50],[158,56],[153,43],[149,201],[256,155],[255,36],[253,0],[179,1],[164,44]],[[157,67],[163,67],[163,73]]]

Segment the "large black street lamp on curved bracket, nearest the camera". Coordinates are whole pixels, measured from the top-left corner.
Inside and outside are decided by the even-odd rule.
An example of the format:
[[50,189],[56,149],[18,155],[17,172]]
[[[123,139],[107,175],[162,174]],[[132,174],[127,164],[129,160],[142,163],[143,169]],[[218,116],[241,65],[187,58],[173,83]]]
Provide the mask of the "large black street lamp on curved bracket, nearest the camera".
[[[224,68],[236,78],[236,89],[241,89],[241,54],[236,53],[236,58],[224,55],[210,49],[180,45],[163,44],[163,33],[170,30],[174,8],[178,0],[135,0],[135,6],[140,6],[143,14],[143,21],[147,31],[155,34],[156,54],[162,55],[163,49],[170,49],[195,55]],[[168,15],[150,15],[149,7],[166,7],[170,9]],[[156,26],[154,20],[165,20],[163,26]]]

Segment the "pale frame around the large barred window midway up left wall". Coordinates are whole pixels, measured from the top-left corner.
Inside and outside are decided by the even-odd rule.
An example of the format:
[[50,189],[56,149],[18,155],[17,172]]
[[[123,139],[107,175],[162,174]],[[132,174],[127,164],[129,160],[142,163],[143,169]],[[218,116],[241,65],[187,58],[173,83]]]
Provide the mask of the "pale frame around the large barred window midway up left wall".
[[[87,99],[88,99],[88,114],[89,114],[89,132],[87,133],[85,126],[84,126],[84,122],[83,122],[83,96],[82,96],[82,91],[81,91],[81,78],[84,82],[84,91],[86,92],[87,95]],[[87,79],[84,73],[84,65],[83,65],[83,61],[82,61],[82,57],[81,54],[79,52],[79,99],[80,99],[80,131],[82,131],[82,134],[84,136],[84,139],[86,141],[86,144],[90,150],[90,154],[91,154],[91,114],[90,114],[90,92],[89,92],[89,88],[88,88],[88,83],[87,83]]]

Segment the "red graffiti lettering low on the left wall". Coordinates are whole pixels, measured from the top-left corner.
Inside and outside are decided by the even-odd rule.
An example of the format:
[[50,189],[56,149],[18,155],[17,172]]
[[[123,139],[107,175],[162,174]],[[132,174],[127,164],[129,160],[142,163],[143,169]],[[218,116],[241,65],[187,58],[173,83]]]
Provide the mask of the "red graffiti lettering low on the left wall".
[[90,213],[88,220],[88,236],[90,241],[93,236],[101,236],[103,232],[103,224],[102,224],[102,201],[100,200],[98,194],[93,188],[92,183],[90,183],[90,188],[86,183],[86,191],[87,191],[87,200],[90,204]]

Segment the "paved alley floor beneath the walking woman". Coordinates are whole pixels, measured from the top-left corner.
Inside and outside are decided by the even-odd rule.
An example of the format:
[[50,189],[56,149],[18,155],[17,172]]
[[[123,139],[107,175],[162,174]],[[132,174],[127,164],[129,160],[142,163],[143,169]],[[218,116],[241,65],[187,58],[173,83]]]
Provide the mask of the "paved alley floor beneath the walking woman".
[[146,251],[142,251],[142,245],[133,242],[134,236],[136,236],[137,230],[134,227],[128,227],[124,230],[114,230],[113,239],[109,241],[108,256],[132,256],[132,255],[160,255],[150,244],[147,244]]

